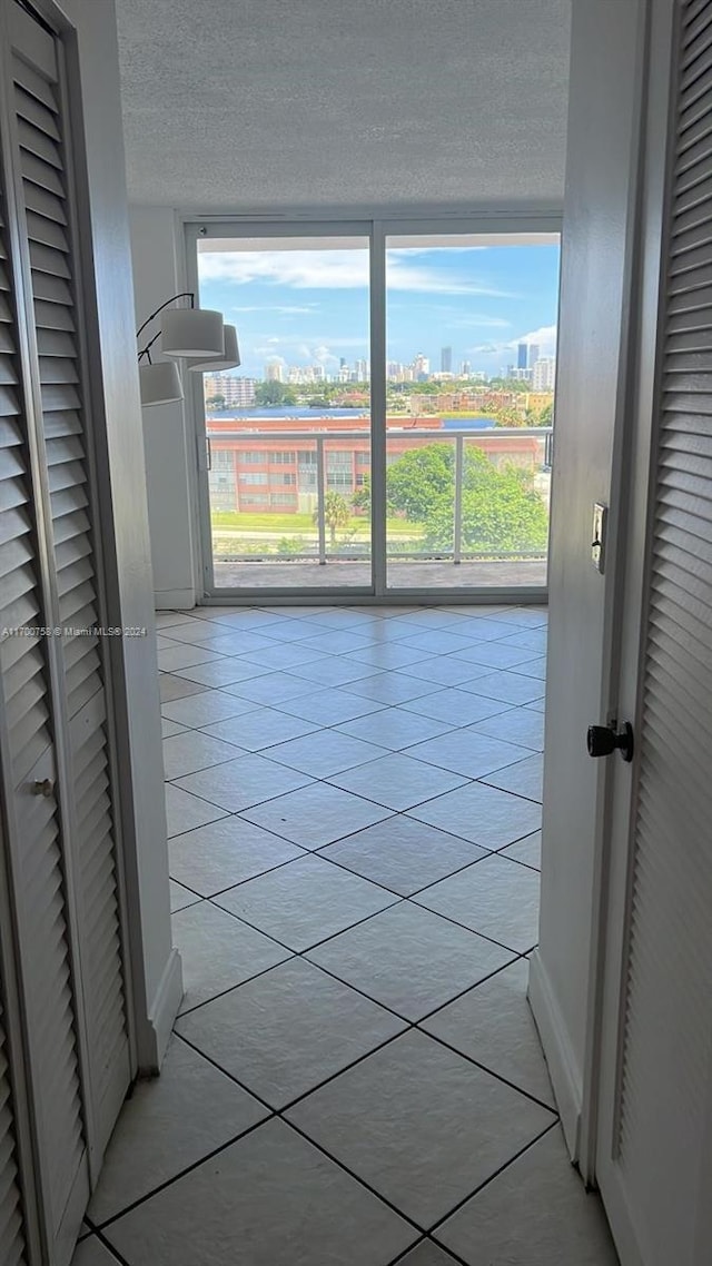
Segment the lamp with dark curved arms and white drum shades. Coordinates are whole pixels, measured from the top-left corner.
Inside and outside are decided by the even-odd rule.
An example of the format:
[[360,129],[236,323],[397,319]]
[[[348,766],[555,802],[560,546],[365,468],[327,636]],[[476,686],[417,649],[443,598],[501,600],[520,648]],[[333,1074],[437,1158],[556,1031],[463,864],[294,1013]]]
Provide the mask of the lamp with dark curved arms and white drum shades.
[[[179,299],[190,299],[190,308],[171,308]],[[138,353],[138,376],[141,381],[141,404],[147,408],[155,404],[174,404],[184,399],[182,384],[176,360],[186,360],[188,367],[195,372],[229,370],[239,365],[237,330],[234,325],[224,325],[223,315],[204,308],[195,308],[195,295],[182,291],[172,295],[151,313],[143,325],[136,332],[137,339],[160,313],[166,311],[161,329]],[[168,361],[152,361],[151,348],[161,339],[163,356]],[[142,363],[146,361],[146,363]]]

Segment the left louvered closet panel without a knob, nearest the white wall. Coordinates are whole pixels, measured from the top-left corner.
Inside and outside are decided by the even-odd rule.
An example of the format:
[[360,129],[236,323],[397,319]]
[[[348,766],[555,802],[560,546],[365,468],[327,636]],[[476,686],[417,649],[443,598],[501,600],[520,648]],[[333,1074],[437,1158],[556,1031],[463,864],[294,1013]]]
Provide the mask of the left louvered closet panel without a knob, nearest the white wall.
[[[14,11],[19,199],[29,256],[38,415],[49,498],[62,708],[72,789],[73,866],[91,1082],[91,1147],[101,1152],[130,1080],[106,736],[105,656],[94,532],[90,410],[82,387],[71,149],[60,47]],[[95,498],[94,498],[95,500]]]

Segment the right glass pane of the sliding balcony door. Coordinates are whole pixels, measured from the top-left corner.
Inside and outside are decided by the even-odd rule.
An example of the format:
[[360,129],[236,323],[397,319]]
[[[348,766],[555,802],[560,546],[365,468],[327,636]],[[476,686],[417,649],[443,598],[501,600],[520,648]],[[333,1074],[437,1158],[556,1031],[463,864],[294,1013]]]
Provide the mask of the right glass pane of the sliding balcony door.
[[544,586],[559,241],[388,239],[388,584]]

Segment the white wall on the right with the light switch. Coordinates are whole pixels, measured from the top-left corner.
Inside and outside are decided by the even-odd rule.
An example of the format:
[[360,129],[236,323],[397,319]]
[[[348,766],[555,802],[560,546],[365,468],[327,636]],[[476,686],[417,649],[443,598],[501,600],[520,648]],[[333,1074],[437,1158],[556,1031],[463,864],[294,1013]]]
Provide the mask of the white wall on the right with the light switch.
[[594,501],[612,505],[625,430],[627,305],[646,0],[573,0],[556,454],[552,487],[541,939],[530,996],[566,1139],[579,1151],[598,952],[604,762],[587,728],[611,706],[613,551],[590,562]]

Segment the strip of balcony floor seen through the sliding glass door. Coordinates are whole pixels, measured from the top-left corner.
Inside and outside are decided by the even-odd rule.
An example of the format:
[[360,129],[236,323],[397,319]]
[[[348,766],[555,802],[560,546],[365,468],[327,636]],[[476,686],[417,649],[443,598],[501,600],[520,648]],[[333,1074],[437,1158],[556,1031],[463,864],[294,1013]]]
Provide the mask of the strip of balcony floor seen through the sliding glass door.
[[[388,565],[393,590],[448,590],[466,587],[535,589],[546,585],[546,562],[418,562],[393,561]],[[367,589],[371,567],[367,562],[217,562],[215,591],[242,589]]]

